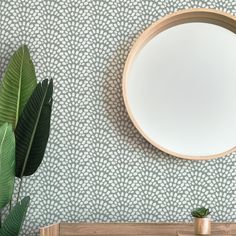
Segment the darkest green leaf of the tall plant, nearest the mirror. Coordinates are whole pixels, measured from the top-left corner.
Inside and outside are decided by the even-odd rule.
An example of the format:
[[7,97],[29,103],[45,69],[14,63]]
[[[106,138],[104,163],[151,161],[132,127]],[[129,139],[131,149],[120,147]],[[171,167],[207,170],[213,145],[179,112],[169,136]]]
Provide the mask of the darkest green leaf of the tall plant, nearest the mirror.
[[16,176],[32,175],[39,167],[48,141],[52,109],[52,80],[38,83],[17,123]]

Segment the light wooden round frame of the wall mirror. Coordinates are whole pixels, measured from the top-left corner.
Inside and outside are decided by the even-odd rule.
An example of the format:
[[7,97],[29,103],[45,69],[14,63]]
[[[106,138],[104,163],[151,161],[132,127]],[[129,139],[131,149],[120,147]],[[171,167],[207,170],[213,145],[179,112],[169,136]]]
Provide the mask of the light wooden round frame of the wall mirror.
[[[202,9],[202,8],[196,8],[196,9],[187,9],[187,10],[181,10],[177,11],[175,13],[172,13],[170,15],[167,15],[163,17],[162,19],[154,22],[151,26],[149,26],[137,39],[137,41],[134,43],[128,58],[125,63],[124,72],[123,72],[123,80],[122,80],[122,90],[123,90],[123,98],[125,102],[125,106],[127,109],[127,112],[129,114],[129,117],[131,118],[134,126],[138,129],[138,131],[142,134],[142,136],[149,141],[153,146],[157,147],[158,149],[164,151],[165,153],[168,153],[170,155],[183,158],[183,159],[190,159],[190,160],[209,160],[217,157],[223,157],[227,154],[230,154],[234,151],[236,151],[236,146],[230,150],[227,150],[223,153],[215,154],[215,155],[208,155],[208,156],[187,156],[181,153],[176,153],[171,150],[168,150],[158,143],[156,143],[154,140],[150,139],[144,131],[141,129],[139,124],[137,123],[134,115],[131,112],[131,108],[128,102],[127,97],[127,81],[128,81],[128,71],[130,69],[130,66],[135,59],[137,53],[142,49],[142,47],[149,42],[154,36],[161,33],[162,31],[169,29],[173,26],[184,24],[184,23],[190,23],[190,22],[204,22],[204,23],[211,23],[215,24],[221,27],[224,27],[233,33],[236,33],[236,17],[232,16],[228,13],[213,10],[213,9]],[[236,121],[235,121],[236,122]],[[236,145],[236,140],[235,140]]]

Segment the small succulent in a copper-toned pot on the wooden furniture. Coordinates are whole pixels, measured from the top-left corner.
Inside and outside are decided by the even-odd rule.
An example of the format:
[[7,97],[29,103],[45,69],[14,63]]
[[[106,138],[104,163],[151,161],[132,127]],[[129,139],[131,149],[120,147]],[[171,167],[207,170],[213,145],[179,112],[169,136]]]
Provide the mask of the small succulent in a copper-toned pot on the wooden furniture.
[[194,233],[198,235],[211,234],[210,211],[205,207],[197,208],[191,212],[194,217]]

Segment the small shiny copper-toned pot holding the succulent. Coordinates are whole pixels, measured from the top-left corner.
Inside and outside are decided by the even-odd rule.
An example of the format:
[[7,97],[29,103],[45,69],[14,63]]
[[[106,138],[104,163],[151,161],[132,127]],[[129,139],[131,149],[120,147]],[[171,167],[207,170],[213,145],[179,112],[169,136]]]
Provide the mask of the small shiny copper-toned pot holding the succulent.
[[198,235],[211,234],[211,219],[210,218],[194,218],[194,233]]

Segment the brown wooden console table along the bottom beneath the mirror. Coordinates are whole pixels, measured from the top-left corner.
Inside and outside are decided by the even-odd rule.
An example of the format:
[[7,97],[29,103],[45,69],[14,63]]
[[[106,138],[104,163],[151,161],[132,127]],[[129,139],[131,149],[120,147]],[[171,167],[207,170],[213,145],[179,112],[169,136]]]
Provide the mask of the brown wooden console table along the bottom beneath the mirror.
[[[187,223],[58,223],[40,236],[193,236]],[[236,223],[212,223],[212,236],[236,236]]]

